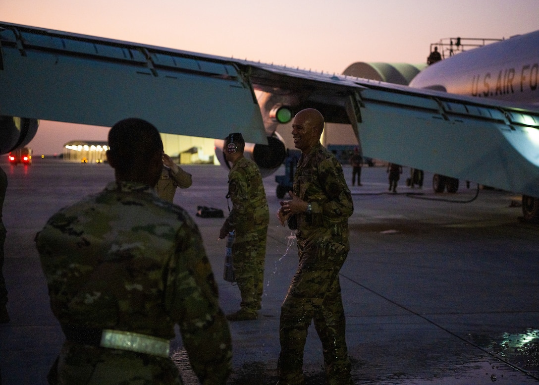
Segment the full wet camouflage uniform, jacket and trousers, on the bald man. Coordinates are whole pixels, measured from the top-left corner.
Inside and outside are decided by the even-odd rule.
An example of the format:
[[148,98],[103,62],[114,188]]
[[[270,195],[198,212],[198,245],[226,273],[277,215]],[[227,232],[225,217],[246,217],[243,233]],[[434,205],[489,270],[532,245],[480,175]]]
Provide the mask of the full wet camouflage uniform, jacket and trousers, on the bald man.
[[322,341],[330,385],[351,384],[338,272],[350,249],[348,217],[354,211],[341,164],[317,143],[301,155],[294,195],[312,205],[296,214],[299,266],[281,307],[279,385],[304,384],[303,348],[311,320]]

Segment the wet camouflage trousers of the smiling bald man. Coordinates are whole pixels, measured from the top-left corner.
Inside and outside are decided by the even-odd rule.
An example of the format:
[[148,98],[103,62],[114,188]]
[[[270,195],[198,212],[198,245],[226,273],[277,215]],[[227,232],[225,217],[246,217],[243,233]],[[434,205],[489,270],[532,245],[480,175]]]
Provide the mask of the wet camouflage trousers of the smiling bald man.
[[330,385],[351,384],[350,360],[344,339],[345,318],[338,272],[347,252],[327,255],[300,249],[298,271],[281,306],[279,385],[304,385],[303,349],[312,320],[322,342]]

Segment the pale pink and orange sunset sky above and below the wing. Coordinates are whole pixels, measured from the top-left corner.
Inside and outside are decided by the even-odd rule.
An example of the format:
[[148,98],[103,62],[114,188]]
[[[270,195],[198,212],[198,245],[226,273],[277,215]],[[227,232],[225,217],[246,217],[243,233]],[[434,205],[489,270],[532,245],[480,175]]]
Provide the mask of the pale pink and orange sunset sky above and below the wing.
[[[539,29],[537,0],[0,0],[0,20],[342,73],[355,61],[424,63],[442,38]],[[108,128],[42,122],[34,155]]]

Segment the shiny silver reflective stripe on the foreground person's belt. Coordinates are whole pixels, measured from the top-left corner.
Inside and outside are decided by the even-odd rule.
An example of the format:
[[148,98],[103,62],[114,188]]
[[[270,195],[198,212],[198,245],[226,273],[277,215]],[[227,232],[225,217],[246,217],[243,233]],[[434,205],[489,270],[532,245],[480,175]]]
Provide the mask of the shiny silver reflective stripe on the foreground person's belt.
[[100,346],[111,349],[169,357],[170,341],[151,335],[103,329]]

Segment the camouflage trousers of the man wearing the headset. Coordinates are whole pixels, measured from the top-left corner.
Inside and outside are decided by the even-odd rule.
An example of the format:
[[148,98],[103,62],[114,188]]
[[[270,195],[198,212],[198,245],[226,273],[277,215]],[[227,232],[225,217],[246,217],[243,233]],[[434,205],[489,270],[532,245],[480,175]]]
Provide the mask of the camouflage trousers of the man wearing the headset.
[[232,246],[234,276],[241,295],[241,308],[258,311],[264,292],[264,260],[267,226],[236,236]]

